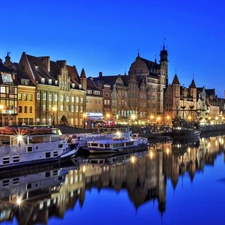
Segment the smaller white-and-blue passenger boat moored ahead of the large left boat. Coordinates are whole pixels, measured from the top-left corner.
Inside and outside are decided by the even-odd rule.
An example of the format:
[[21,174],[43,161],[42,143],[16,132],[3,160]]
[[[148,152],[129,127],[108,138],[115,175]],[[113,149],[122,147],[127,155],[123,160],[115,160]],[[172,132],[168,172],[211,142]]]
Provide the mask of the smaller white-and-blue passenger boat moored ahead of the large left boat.
[[89,153],[112,153],[112,152],[134,152],[143,150],[148,146],[148,139],[141,137],[124,137],[123,133],[117,132],[112,138],[92,140],[87,142],[83,151]]

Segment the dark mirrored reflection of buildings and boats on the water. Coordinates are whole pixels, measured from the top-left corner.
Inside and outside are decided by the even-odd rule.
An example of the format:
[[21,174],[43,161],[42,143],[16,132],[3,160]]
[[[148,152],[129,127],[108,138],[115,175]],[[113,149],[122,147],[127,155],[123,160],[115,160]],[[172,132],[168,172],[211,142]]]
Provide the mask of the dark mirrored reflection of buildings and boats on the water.
[[78,158],[79,165],[0,177],[0,222],[16,218],[21,225],[48,224],[52,216],[63,218],[77,203],[82,206],[85,191],[92,188],[125,189],[136,209],[156,201],[159,213],[164,213],[167,181],[174,189],[185,174],[193,181],[196,172],[214,165],[224,152],[224,138],[155,143],[148,151]]

